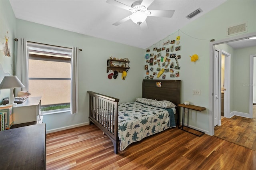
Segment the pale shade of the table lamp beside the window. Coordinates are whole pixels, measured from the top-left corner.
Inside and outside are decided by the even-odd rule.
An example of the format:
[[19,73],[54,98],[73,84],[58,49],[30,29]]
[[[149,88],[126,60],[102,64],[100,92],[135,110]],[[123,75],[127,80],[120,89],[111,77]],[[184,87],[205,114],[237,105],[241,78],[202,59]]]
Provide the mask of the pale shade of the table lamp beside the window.
[[0,84],[0,89],[11,89],[17,87],[25,87],[16,75],[5,76]]

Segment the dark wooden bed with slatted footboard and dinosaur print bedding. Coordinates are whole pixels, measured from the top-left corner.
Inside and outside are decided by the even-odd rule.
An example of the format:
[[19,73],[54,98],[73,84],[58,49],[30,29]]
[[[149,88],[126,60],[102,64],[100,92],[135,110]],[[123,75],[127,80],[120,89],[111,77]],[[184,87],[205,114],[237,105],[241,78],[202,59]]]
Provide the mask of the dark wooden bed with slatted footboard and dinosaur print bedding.
[[88,91],[90,125],[96,125],[110,138],[117,154],[118,144],[120,150],[124,150],[146,136],[176,127],[178,107],[164,109],[158,104],[159,101],[170,101],[178,106],[180,84],[180,80],[145,79],[142,81],[142,98],[129,103],[119,103],[117,98]]

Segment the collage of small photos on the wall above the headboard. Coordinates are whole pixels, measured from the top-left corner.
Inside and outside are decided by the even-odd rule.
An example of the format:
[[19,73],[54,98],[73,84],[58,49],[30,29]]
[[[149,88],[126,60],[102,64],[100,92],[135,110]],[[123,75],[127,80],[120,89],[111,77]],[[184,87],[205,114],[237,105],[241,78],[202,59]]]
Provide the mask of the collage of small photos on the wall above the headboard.
[[153,51],[146,50],[146,64],[144,69],[146,71],[145,79],[166,79],[167,76],[171,78],[180,77],[180,65],[178,60],[181,58],[179,51],[180,36],[176,40],[168,40],[163,43],[162,47],[153,47]]

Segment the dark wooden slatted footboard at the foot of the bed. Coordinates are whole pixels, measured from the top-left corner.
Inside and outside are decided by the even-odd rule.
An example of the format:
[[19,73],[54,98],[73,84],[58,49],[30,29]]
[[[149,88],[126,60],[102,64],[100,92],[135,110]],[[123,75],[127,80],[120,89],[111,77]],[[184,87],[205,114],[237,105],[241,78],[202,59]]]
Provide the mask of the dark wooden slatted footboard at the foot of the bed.
[[87,91],[89,93],[89,121],[106,134],[118,152],[118,102],[119,99]]

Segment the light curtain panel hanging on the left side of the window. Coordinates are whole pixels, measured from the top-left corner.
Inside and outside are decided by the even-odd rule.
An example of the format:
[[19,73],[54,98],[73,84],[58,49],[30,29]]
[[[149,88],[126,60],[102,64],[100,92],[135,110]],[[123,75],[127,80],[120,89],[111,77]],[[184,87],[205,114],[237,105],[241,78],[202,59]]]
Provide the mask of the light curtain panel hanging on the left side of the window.
[[19,91],[28,91],[28,47],[24,38],[18,40],[18,49],[16,53],[15,75],[25,87],[16,88],[15,96]]

